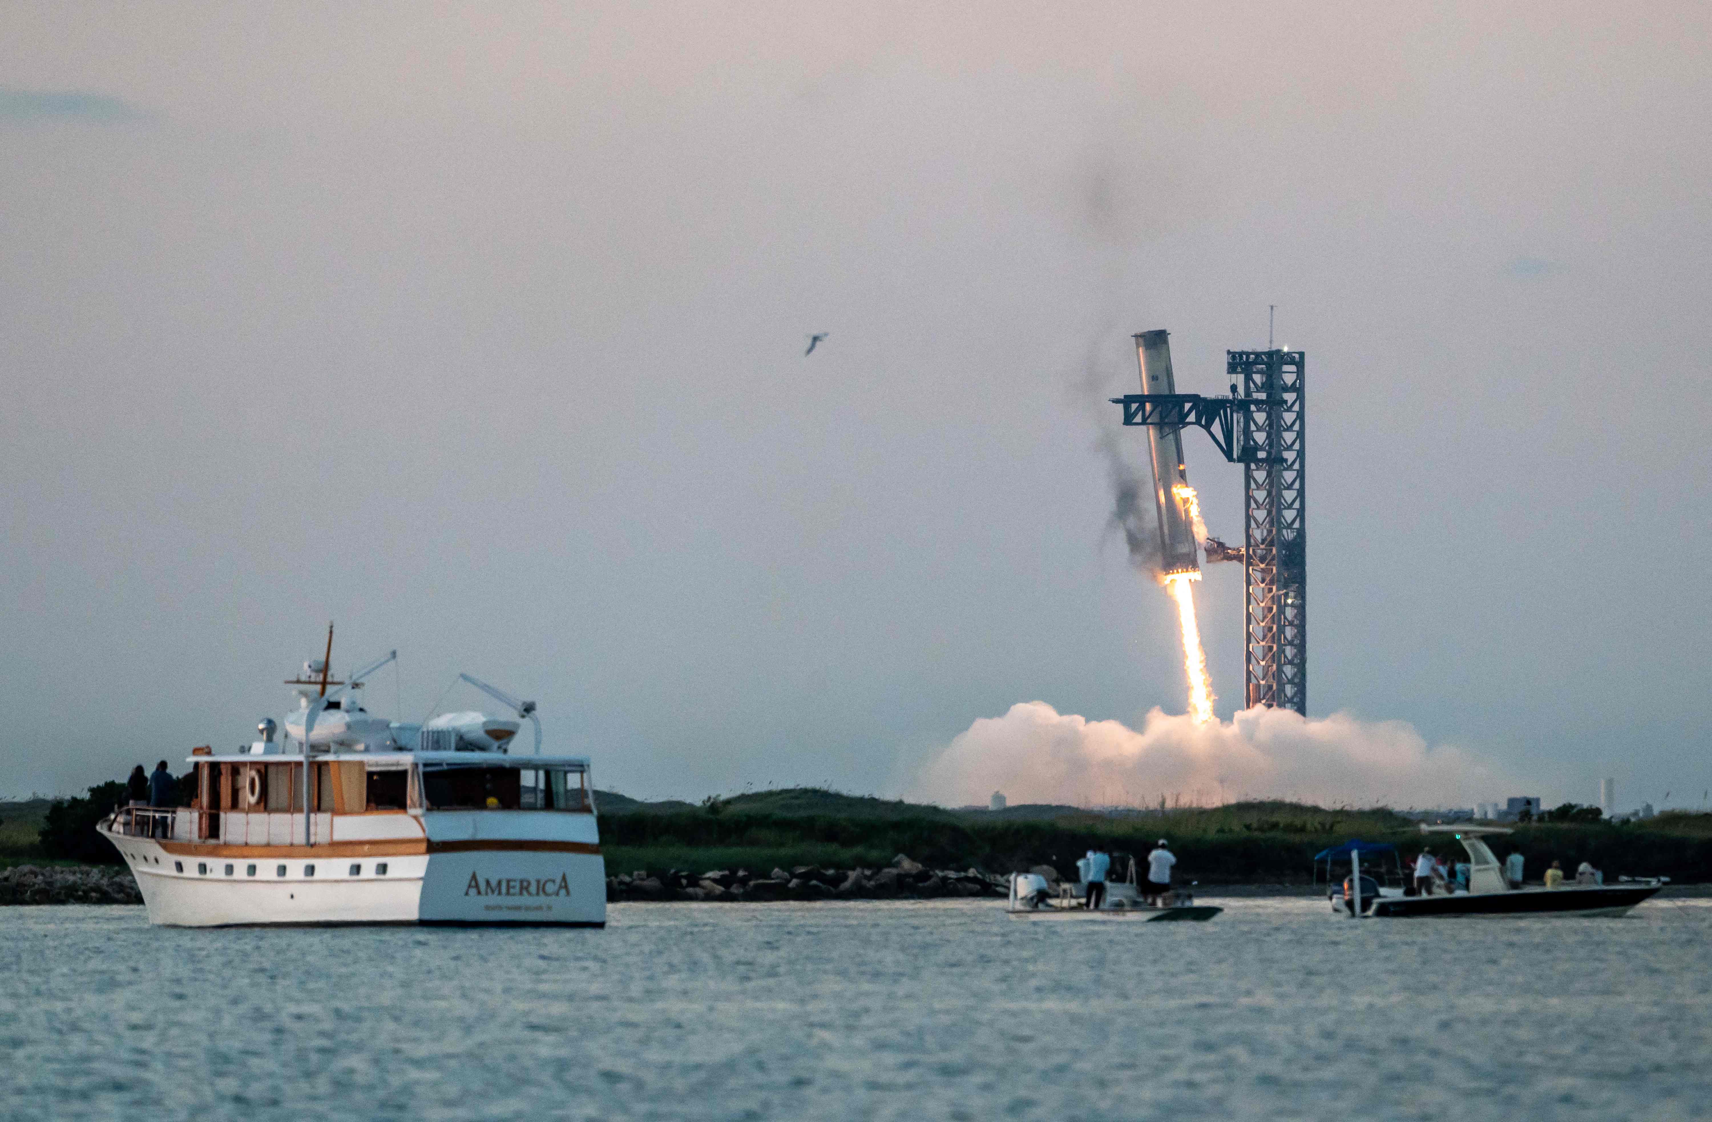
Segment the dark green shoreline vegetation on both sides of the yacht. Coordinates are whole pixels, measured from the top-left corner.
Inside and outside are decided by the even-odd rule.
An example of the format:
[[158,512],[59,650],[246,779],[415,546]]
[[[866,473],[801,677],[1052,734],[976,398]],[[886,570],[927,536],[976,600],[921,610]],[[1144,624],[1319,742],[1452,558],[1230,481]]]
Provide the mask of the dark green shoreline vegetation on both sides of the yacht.
[[[27,864],[38,871],[60,865],[74,872],[120,864],[118,853],[94,833],[96,819],[120,797],[115,788],[116,783],[103,783],[82,799],[0,802],[0,871]],[[1171,842],[1180,876],[1198,881],[1204,889],[1308,886],[1313,855],[1349,838],[1395,843],[1406,859],[1412,859],[1424,842],[1414,819],[1385,807],[1327,809],[1296,802],[1162,811],[1070,806],[984,811],[798,787],[710,797],[700,804],[642,802],[618,792],[596,792],[596,804],[608,895],[615,900],[693,900],[697,896],[681,893],[707,893],[702,881],[709,872],[726,874],[714,883],[770,883],[784,874],[779,898],[818,898],[822,888],[829,896],[844,889],[846,898],[875,898],[889,889],[882,886],[866,895],[861,886],[873,884],[885,869],[897,869],[904,855],[911,864],[919,862],[924,874],[904,874],[897,895],[912,895],[909,884],[935,877],[942,886],[962,884],[955,891],[947,888],[947,895],[984,895],[978,881],[993,884],[993,877],[1012,871],[1051,865],[1068,872],[1094,843],[1109,850],[1118,859],[1116,867],[1126,871],[1125,859],[1145,857],[1157,838]],[[1667,876],[1678,884],[1712,881],[1712,814],[1666,811],[1640,823],[1515,824],[1515,833],[1496,845],[1500,857],[1512,845],[1522,852],[1531,881],[1553,860],[1566,869],[1589,860],[1604,871],[1608,883],[1618,876]],[[851,883],[858,871],[863,876]],[[82,891],[74,881],[67,877],[67,891]],[[647,881],[657,883],[661,893],[645,884],[635,888]],[[789,889],[789,881],[805,884]],[[810,881],[822,888],[808,889]],[[707,893],[704,898],[729,898],[729,884],[721,888],[726,896]],[[762,895],[774,888],[764,886]],[[5,895],[0,893],[0,900]]]

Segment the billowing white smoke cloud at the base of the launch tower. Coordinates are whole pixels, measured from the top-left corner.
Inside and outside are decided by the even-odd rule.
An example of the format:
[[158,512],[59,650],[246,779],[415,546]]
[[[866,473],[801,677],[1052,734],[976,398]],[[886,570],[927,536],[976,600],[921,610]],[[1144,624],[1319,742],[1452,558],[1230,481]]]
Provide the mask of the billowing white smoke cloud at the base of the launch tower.
[[1229,722],[1195,723],[1154,708],[1137,732],[1025,701],[969,725],[919,771],[909,797],[967,806],[1002,790],[1014,806],[1157,806],[1164,797],[1198,806],[1294,799],[1453,807],[1510,783],[1459,747],[1428,747],[1399,720],[1253,708]]

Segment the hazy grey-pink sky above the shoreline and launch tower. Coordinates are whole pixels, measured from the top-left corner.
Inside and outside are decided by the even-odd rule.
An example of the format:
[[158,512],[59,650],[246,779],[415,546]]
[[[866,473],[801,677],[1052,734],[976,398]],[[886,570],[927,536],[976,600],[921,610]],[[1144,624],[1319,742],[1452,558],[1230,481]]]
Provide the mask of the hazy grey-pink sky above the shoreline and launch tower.
[[[247,742],[329,621],[336,669],[399,650],[372,710],[467,670],[639,797],[894,795],[1017,705],[1181,713],[1104,399],[1152,328],[1221,392],[1277,304],[1308,715],[1406,725],[1445,797],[1698,807],[1709,41],[1690,3],[12,3],[0,795]],[[1229,722],[1241,573],[1197,597]]]

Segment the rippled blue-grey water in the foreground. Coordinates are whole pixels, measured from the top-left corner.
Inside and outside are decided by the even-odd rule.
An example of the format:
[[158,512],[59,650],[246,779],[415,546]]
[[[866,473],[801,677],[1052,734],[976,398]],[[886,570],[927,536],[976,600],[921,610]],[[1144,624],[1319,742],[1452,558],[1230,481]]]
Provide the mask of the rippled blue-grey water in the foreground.
[[1226,903],[615,905],[604,932],[5,908],[0,1117],[1712,1115],[1712,901],[1364,924]]

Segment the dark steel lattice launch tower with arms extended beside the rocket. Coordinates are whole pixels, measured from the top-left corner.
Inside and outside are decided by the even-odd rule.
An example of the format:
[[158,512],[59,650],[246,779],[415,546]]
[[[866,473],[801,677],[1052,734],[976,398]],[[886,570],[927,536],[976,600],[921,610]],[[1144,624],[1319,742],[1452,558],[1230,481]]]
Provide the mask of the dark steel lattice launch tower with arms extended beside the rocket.
[[[1130,393],[1123,422],[1212,436],[1243,465],[1246,705],[1308,715],[1308,522],[1301,351],[1228,351],[1231,397]],[[1234,551],[1231,551],[1234,552]]]

